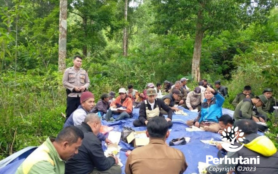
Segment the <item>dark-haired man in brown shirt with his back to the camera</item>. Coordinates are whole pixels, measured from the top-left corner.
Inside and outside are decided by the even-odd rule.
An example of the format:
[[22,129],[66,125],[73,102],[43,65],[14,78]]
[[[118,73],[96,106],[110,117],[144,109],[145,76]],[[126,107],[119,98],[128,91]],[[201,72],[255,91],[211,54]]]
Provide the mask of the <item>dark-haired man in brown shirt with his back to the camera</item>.
[[181,174],[186,170],[183,153],[165,144],[170,132],[163,117],[151,118],[146,134],[150,144],[131,152],[125,165],[126,174]]

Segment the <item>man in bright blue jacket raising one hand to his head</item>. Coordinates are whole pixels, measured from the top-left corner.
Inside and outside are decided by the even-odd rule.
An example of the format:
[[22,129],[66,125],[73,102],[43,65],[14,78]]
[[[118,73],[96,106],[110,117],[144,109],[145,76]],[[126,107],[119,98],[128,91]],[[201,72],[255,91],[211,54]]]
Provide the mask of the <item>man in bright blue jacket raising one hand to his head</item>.
[[222,116],[222,105],[224,97],[211,87],[207,87],[204,92],[204,102],[201,111],[194,121],[188,121],[189,126],[202,127],[206,131],[217,133],[220,130],[219,118]]

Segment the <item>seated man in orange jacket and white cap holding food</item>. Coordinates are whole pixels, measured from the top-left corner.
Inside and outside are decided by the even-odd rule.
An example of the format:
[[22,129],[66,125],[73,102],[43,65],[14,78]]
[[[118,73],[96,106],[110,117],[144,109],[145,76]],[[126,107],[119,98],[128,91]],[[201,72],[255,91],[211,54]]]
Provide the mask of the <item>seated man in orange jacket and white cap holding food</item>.
[[[117,111],[112,111],[111,108],[118,108]],[[132,117],[132,101],[127,96],[125,88],[119,89],[119,96],[110,104],[110,108],[106,113],[104,119],[107,121],[112,117],[112,114],[119,114],[119,116],[115,119],[129,119]]]

